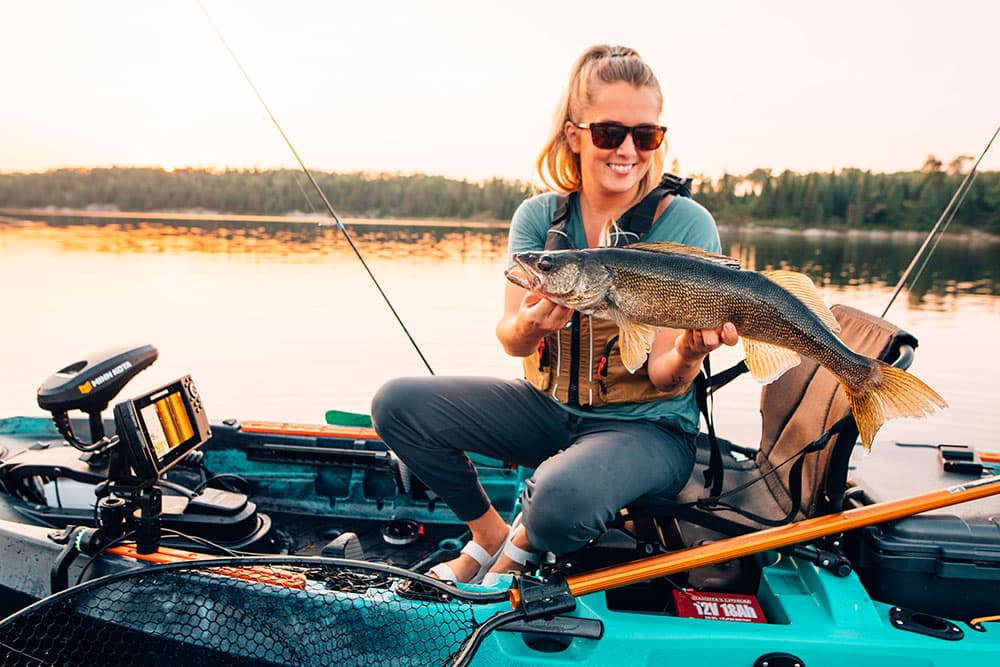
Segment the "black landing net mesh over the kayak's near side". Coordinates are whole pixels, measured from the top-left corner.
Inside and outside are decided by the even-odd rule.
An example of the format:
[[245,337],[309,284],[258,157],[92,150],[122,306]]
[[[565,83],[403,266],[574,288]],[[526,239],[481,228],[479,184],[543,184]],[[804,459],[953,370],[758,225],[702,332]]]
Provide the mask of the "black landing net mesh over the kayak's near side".
[[46,598],[0,624],[0,664],[425,667],[450,664],[478,626],[475,596],[402,570],[254,561],[130,570]]

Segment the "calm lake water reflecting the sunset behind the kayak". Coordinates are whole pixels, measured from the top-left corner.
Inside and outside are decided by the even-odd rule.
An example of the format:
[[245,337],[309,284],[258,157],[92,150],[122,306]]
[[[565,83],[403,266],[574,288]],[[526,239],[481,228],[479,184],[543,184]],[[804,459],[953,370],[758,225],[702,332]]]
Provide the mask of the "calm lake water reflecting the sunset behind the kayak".
[[[502,227],[348,226],[436,373],[520,374],[493,335]],[[745,267],[803,270],[828,303],[875,314],[922,240],[723,230]],[[950,407],[890,422],[879,441],[1000,449],[998,265],[1000,243],[946,238],[896,300],[888,318],[921,342],[911,371]],[[48,375],[133,342],[160,359],[126,395],[191,373],[216,421],[321,423],[329,408],[367,412],[391,377],[428,372],[339,232],[314,224],[0,224],[0,304],[0,416],[43,414]],[[714,367],[739,358],[725,350]],[[749,378],[720,393],[720,434],[756,442],[758,394]]]

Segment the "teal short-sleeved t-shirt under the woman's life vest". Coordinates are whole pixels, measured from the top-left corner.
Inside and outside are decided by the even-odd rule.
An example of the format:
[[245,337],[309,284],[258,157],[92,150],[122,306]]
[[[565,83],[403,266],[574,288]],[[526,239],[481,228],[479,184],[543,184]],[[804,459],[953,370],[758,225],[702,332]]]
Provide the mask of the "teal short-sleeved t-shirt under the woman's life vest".
[[[552,216],[558,206],[556,193],[547,192],[524,201],[514,212],[507,243],[507,260],[516,252],[542,250],[545,237],[552,224]],[[566,225],[567,233],[576,248],[587,247],[587,236],[583,230],[579,199],[570,211]],[[653,222],[653,226],[642,239],[650,242],[673,242],[697,246],[710,252],[721,252],[719,231],[712,214],[704,206],[687,197],[674,197],[667,209]],[[668,398],[649,403],[614,403],[582,410],[562,405],[563,409],[584,417],[604,417],[611,419],[649,419],[667,421],[688,433],[697,433],[700,426],[698,406],[694,392],[677,398]]]

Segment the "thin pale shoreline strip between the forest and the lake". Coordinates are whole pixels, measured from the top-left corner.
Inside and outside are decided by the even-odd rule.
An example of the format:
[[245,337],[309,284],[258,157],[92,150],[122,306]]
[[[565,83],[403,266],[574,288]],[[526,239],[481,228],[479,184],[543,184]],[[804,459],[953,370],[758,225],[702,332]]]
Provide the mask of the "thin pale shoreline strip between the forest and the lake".
[[[116,211],[100,209],[67,208],[0,208],[0,225],[26,225],[46,218],[83,218],[95,220],[124,220],[139,222],[190,222],[190,223],[283,223],[314,224],[335,227],[336,223],[326,214],[292,213],[288,215],[245,215],[217,213],[205,210],[188,211]],[[439,218],[343,218],[345,224],[372,227],[438,227],[479,230],[506,230],[506,220],[456,220]],[[762,224],[757,221],[733,224],[717,221],[720,232],[729,234],[761,234],[774,236],[859,236],[865,238],[885,238],[917,240],[929,232],[918,229],[832,229],[827,227],[790,228],[780,224]],[[971,239],[988,243],[1000,243],[1000,234],[990,234],[980,230],[946,231],[952,239]]]

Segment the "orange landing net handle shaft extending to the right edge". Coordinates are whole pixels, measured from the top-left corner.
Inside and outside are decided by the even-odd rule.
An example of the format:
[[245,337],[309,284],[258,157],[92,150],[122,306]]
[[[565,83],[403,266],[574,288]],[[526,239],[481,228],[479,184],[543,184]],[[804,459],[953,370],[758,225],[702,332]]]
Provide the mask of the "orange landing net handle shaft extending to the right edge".
[[[940,509],[998,493],[1000,493],[1000,475],[994,475],[959,486],[859,507],[837,514],[805,519],[784,526],[767,528],[749,535],[730,537],[711,544],[594,570],[569,577],[566,583],[573,596],[577,597],[627,586],[646,579],[685,572],[696,567],[714,565],[769,549],[779,549],[809,542],[827,535],[902,519],[920,512]],[[510,591],[510,600],[515,609],[521,604],[521,593],[516,587]]]

